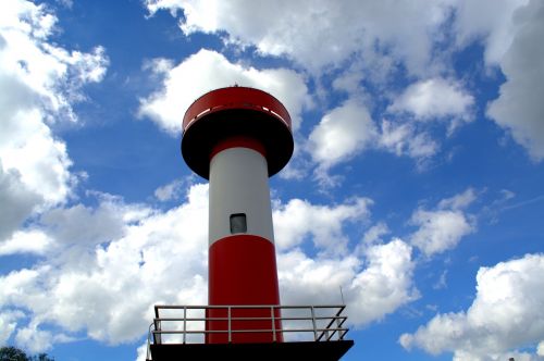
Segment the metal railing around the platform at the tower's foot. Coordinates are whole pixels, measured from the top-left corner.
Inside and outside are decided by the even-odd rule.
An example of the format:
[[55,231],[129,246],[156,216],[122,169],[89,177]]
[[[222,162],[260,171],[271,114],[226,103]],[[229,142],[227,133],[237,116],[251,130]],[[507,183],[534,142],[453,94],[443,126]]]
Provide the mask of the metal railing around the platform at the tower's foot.
[[[272,343],[343,340],[348,332],[344,326],[347,320],[343,315],[345,308],[344,304],[156,306],[154,319],[149,326],[147,360],[151,360],[151,343],[203,344],[211,334],[225,335],[226,343],[233,343],[236,334],[269,334]],[[258,316],[251,315],[255,311]],[[256,321],[259,322],[257,329]],[[221,323],[222,326],[209,327],[211,323]],[[244,327],[245,323],[249,326]],[[261,327],[262,325],[268,326]]]

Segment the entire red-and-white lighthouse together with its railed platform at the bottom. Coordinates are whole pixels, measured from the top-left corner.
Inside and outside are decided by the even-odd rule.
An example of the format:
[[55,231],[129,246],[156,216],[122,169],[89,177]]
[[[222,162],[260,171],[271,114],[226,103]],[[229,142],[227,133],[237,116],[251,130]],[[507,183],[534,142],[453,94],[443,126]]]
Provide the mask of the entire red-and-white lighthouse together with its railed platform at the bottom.
[[182,154],[210,183],[209,302],[156,304],[147,360],[337,361],[354,345],[345,304],[280,302],[268,179],[293,147],[289,113],[268,92],[234,86],[190,104]]

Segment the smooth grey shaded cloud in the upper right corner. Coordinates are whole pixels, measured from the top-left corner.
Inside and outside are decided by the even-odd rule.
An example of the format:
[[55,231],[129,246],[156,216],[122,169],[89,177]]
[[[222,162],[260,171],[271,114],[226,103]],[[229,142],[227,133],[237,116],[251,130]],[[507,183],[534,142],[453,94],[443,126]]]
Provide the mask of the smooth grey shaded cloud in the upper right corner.
[[462,1],[454,27],[460,47],[474,40],[485,46],[484,60],[506,77],[486,115],[507,129],[532,159],[544,159],[544,7],[539,0]]

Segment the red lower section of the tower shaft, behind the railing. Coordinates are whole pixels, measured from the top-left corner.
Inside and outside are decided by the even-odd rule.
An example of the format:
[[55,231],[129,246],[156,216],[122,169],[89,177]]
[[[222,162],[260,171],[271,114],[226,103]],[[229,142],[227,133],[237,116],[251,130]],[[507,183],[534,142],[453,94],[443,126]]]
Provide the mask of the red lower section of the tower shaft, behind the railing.
[[[271,310],[262,306],[280,304],[274,245],[255,235],[235,235],[212,244],[209,250],[209,304],[261,306],[236,309],[228,321],[208,321],[206,344],[281,343],[280,320],[271,320]],[[280,318],[274,311],[274,318]],[[207,318],[228,318],[228,309],[210,309]],[[255,319],[267,320],[255,320]],[[252,320],[249,320],[252,319]],[[230,327],[230,328],[228,328]],[[231,339],[227,331],[231,329]],[[262,332],[255,332],[262,329]],[[275,336],[274,332],[275,331]],[[244,333],[244,331],[252,331]]]

